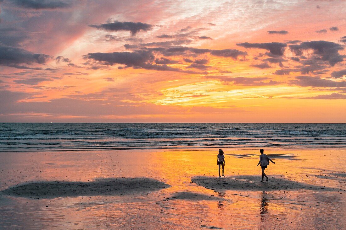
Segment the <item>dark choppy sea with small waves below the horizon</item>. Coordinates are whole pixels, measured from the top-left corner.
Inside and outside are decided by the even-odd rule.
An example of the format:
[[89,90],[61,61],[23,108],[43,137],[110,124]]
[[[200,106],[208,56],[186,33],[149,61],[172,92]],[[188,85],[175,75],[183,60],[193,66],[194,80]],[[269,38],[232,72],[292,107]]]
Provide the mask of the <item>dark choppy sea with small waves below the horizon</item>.
[[344,146],[339,123],[0,123],[0,152]]

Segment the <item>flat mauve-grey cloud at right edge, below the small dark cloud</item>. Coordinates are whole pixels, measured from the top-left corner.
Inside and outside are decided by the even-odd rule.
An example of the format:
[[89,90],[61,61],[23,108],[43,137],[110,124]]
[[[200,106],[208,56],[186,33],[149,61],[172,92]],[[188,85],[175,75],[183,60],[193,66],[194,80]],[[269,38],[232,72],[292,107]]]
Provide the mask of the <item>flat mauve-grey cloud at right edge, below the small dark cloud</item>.
[[295,77],[295,80],[291,80],[290,84],[303,87],[346,87],[346,81],[335,82],[332,80],[321,79],[319,76],[298,76]]

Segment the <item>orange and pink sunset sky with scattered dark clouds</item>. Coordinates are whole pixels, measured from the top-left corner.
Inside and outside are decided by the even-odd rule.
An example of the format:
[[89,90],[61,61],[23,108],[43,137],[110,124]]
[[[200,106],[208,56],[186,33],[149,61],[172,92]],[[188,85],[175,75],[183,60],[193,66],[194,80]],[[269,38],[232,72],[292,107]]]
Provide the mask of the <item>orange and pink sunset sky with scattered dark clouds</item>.
[[346,122],[346,1],[0,0],[0,122]]

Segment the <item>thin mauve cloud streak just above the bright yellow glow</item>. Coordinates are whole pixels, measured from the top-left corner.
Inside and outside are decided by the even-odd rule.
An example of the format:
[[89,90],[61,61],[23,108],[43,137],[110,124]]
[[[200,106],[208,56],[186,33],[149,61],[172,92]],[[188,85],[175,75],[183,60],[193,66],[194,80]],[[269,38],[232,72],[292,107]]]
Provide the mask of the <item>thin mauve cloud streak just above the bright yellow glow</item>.
[[204,76],[204,77],[219,79],[221,82],[233,82],[234,84],[237,84],[237,85],[261,86],[261,85],[280,84],[279,82],[275,82],[273,80],[270,80],[269,82],[263,82],[263,80],[271,79],[268,77],[224,77],[224,76]]

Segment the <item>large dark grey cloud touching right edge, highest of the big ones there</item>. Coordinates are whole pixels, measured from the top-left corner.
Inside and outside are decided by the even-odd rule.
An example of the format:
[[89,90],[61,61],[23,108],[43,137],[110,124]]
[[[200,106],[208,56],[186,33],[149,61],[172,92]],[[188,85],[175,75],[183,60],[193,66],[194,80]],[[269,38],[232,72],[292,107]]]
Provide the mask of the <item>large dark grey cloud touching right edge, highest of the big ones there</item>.
[[338,43],[331,41],[305,41],[300,45],[290,45],[291,51],[297,55],[302,55],[304,50],[313,50],[313,54],[321,56],[323,61],[328,61],[331,66],[344,60],[345,55],[340,55],[339,50],[344,47]]

